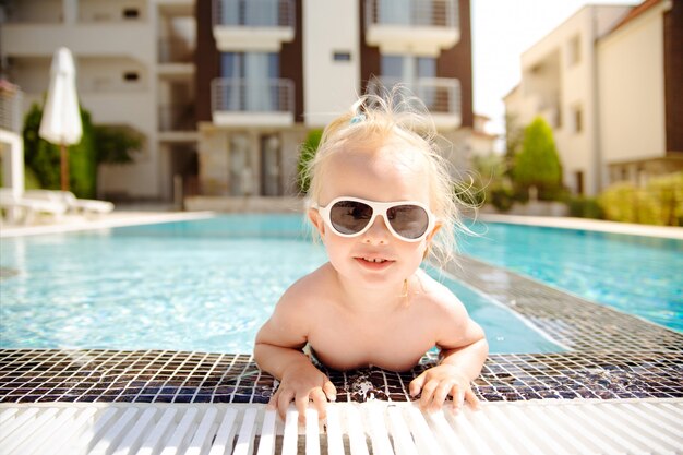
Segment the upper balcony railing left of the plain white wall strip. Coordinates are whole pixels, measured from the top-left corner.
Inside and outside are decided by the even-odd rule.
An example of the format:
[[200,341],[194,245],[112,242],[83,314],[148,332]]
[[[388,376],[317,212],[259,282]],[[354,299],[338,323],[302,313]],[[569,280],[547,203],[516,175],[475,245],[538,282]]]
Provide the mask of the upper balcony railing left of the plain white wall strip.
[[214,0],[214,25],[232,27],[292,27],[293,0]]

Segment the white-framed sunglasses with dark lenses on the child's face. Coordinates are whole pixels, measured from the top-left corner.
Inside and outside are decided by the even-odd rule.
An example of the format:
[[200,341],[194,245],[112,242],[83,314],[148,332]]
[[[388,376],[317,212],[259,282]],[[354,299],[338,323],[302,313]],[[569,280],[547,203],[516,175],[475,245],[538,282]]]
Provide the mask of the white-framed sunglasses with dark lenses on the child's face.
[[397,239],[417,242],[432,231],[436,217],[421,202],[374,202],[359,197],[336,197],[329,204],[313,205],[332,230],[342,237],[357,237],[372,226],[378,216]]

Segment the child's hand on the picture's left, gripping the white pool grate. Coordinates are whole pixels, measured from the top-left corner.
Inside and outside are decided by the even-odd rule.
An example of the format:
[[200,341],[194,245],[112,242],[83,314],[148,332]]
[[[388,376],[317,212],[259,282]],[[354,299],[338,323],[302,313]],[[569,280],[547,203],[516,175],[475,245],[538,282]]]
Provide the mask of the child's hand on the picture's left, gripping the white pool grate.
[[299,411],[299,422],[305,422],[305,409],[309,403],[317,410],[322,420],[327,417],[325,407],[327,400],[334,402],[337,390],[329,379],[309,362],[297,362],[283,372],[277,391],[271,397],[268,407],[277,409],[280,418],[285,420],[287,408],[293,400]]

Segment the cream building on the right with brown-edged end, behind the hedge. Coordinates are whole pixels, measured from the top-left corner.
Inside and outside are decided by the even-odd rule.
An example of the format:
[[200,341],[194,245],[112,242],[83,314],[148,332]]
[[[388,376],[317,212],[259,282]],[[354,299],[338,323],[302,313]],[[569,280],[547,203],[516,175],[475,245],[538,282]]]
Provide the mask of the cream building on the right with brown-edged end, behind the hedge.
[[587,5],[522,55],[508,118],[549,122],[574,193],[683,168],[682,10],[669,0]]

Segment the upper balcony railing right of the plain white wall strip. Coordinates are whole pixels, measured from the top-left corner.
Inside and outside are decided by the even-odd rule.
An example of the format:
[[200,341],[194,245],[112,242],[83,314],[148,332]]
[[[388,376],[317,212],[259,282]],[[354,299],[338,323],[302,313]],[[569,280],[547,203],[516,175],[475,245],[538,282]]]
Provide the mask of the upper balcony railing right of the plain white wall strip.
[[366,0],[366,26],[457,27],[455,0]]

